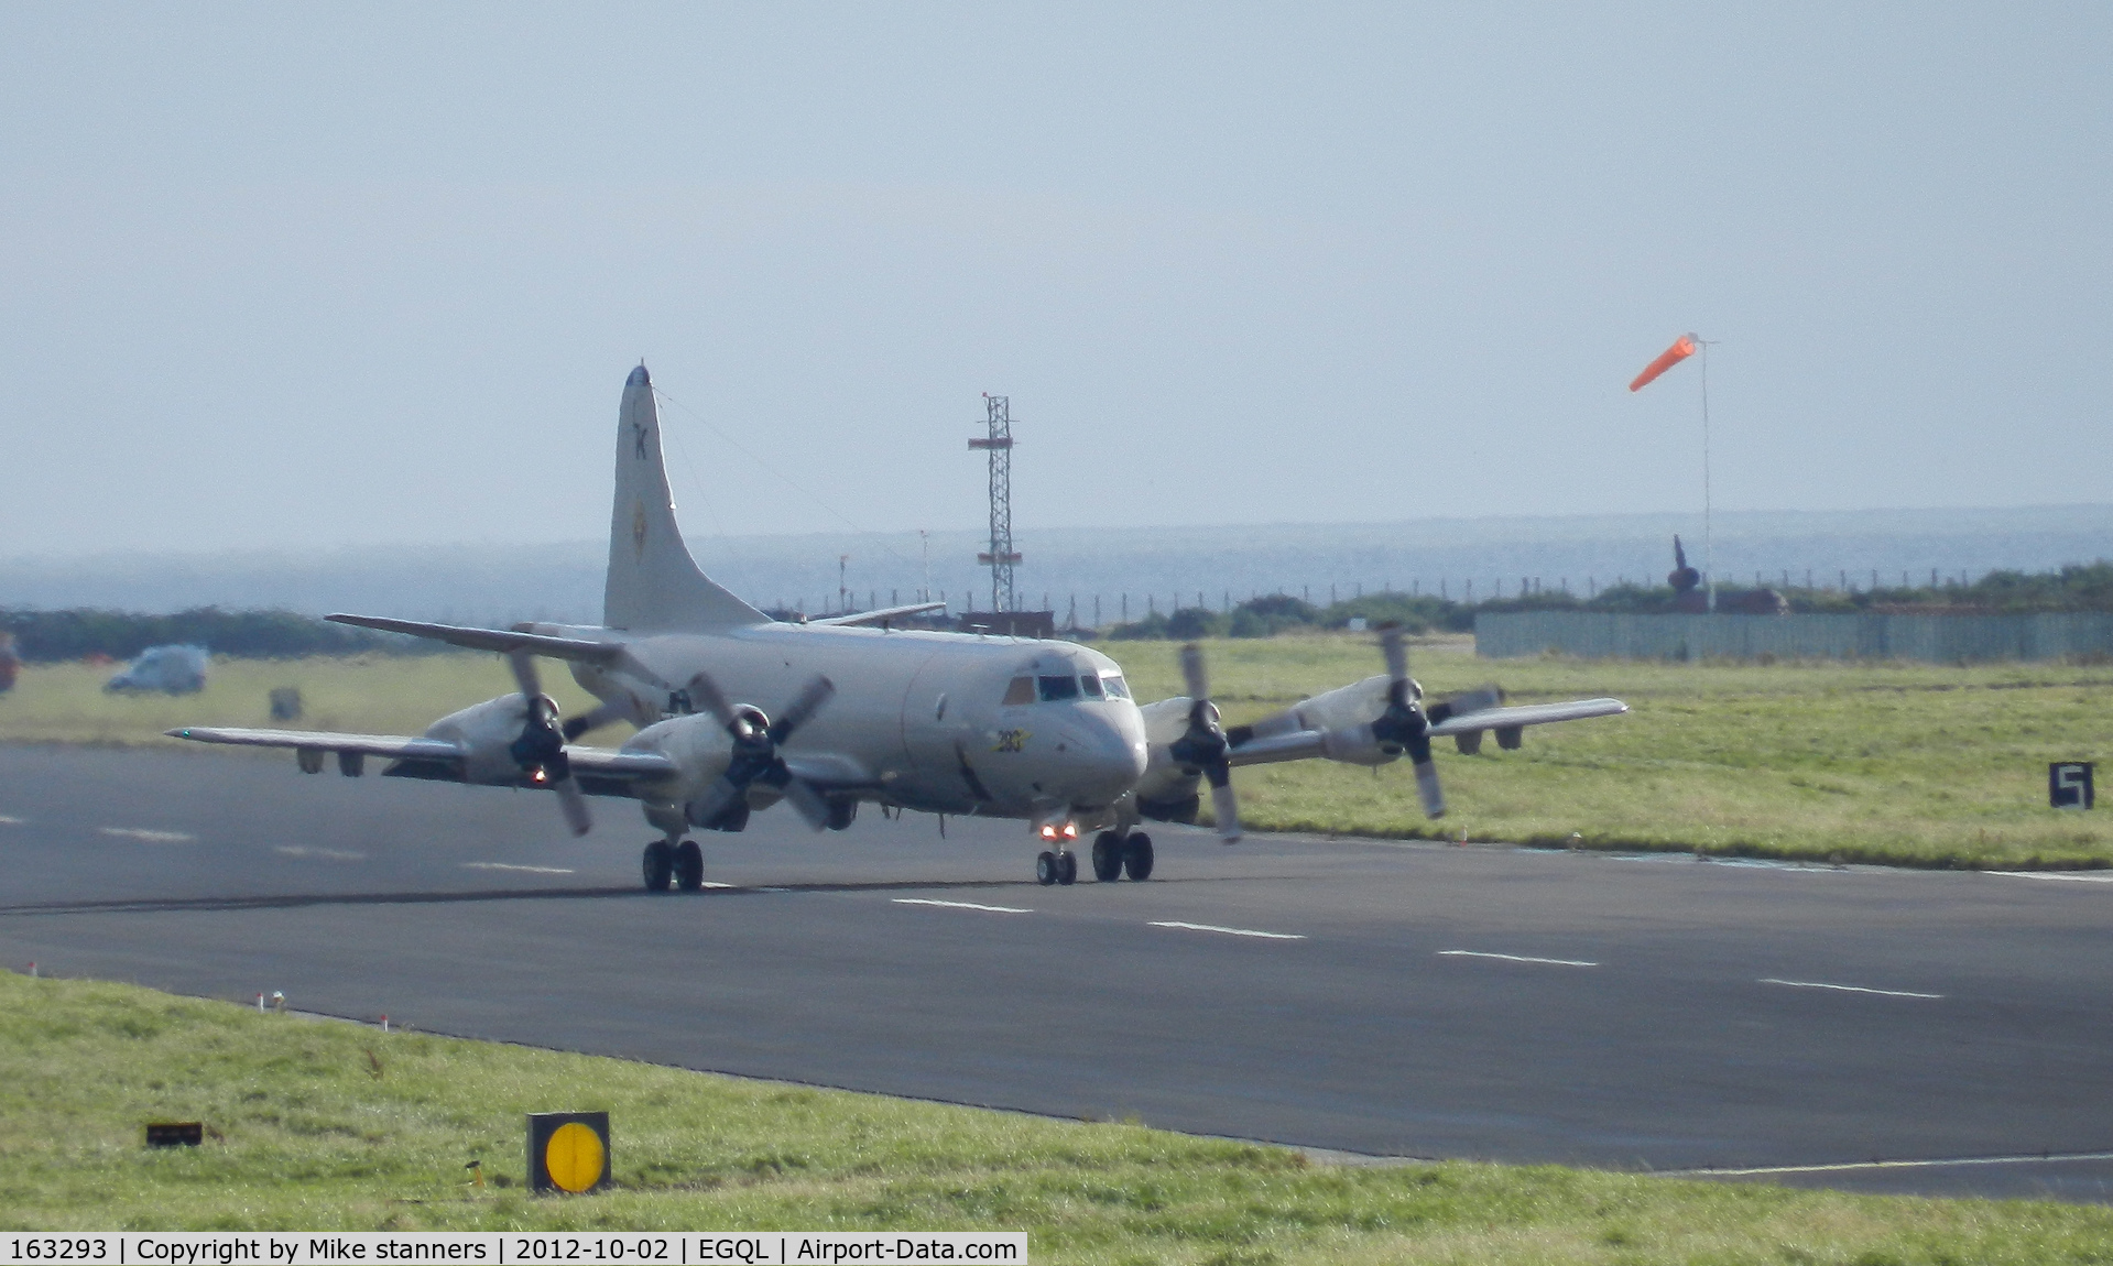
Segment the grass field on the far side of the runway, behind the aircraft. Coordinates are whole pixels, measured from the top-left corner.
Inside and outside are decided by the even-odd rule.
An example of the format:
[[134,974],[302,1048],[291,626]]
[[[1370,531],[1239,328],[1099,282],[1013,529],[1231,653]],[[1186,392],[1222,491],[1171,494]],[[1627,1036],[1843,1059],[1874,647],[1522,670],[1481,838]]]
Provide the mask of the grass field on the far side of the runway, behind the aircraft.
[[[1166,643],[1107,643],[1141,700],[1181,691]],[[1207,643],[1228,721],[1380,670],[1369,636]],[[1500,681],[1515,702],[1616,695],[1629,716],[1547,725],[1479,757],[1439,744],[1452,814],[1426,822],[1407,767],[1304,761],[1238,774],[1255,829],[1583,848],[1693,850],[1910,867],[2109,867],[2113,816],[2047,807],[2045,769],[2113,746],[2113,666],[1640,664],[1475,659],[1464,638],[1411,649],[1433,693]],[[112,697],[106,670],[30,666],[0,695],[0,740],[173,742],[171,725],[268,725],[298,685],[304,727],[418,733],[511,689],[494,655],[216,666],[186,697]],[[587,704],[556,666],[545,689]],[[611,731],[613,733],[613,731]],[[602,742],[615,742],[604,738]],[[222,757],[226,757],[222,752]]]

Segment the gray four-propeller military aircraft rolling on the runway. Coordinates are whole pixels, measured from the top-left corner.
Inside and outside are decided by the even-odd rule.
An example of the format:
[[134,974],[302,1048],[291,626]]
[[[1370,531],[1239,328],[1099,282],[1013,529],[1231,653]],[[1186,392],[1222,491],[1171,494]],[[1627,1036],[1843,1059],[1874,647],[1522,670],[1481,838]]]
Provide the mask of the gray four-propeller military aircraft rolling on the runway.
[[[1431,740],[1477,750],[1485,731],[1519,746],[1528,725],[1627,712],[1619,700],[1507,708],[1494,687],[1422,706],[1399,630],[1382,632],[1386,674],[1226,729],[1202,653],[1181,649],[1188,695],[1139,706],[1122,668],[1090,647],[896,628],[940,609],[917,602],[828,619],[780,621],[712,583],[676,530],[659,414],[644,366],[617,412],[617,492],[600,626],[461,628],[330,615],[338,623],[499,651],[518,693],[435,721],[423,736],[296,729],[171,729],[213,744],[294,748],[302,771],[325,752],[357,776],[366,757],[393,778],[549,788],[575,835],[585,797],[628,797],[661,835],[644,886],[695,890],[704,854],[691,829],[742,831],[790,801],[816,831],[843,831],[860,803],[1014,818],[1033,826],[1035,879],[1071,883],[1071,843],[1095,831],[1092,873],[1152,875],[1147,820],[1194,822],[1209,786],[1226,843],[1240,839],[1232,769],[1329,759],[1384,765],[1409,757],[1424,809],[1445,812]],[[564,659],[600,704],[568,721],[543,693],[537,659]],[[592,729],[638,727],[617,748],[581,746]]]

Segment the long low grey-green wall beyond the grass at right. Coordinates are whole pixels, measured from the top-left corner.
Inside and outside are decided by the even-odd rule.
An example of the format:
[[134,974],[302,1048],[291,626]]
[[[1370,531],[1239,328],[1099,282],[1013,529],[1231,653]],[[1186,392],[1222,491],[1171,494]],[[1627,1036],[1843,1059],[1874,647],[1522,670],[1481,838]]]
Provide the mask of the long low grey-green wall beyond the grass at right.
[[1475,653],[1519,659],[2060,659],[2113,655],[2113,615],[1602,615],[1475,617]]

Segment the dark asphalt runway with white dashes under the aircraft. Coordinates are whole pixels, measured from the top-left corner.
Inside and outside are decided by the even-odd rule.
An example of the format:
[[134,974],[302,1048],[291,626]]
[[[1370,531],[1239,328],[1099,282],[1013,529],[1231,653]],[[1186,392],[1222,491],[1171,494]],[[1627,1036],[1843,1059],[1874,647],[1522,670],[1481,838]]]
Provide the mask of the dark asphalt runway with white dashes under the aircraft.
[[594,809],[0,746],[0,966],[1373,1156],[2113,1203],[2098,875],[1160,829],[1147,883],[1037,888],[1018,824],[868,805],[699,833],[727,888],[682,896]]

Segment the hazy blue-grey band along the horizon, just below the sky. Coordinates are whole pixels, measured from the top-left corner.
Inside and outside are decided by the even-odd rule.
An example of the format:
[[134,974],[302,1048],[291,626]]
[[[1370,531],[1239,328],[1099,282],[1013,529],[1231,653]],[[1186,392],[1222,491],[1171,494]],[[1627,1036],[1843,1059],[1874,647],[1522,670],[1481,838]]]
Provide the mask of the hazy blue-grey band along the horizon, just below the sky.
[[[1090,503],[1080,516],[1090,516]],[[1314,602],[1395,588],[1475,598],[1498,588],[1517,594],[1523,581],[1606,588],[1621,579],[1659,585],[1671,569],[1671,537],[1680,533],[1701,564],[1699,514],[1631,514],[1574,518],[1450,518],[1380,524],[1264,524],[1236,528],[1097,528],[1050,526],[1016,533],[1023,604],[1044,596],[1065,613],[1080,602],[1114,621],[1128,594],[1133,615],[1145,596],[1166,609],[1202,592],[1221,607],[1230,592],[1283,590]],[[2113,505],[2050,505],[2024,509],[1866,509],[1866,511],[1737,511],[1716,516],[1716,571],[1726,585],[1828,585],[1843,573],[1859,585],[1872,573],[1885,588],[1944,579],[1978,579],[1990,571],[2054,571],[2062,564],[2113,558]],[[974,564],[978,533],[932,533],[932,588],[955,611],[968,596],[989,604],[989,573]],[[691,550],[714,579],[761,607],[824,611],[837,604],[837,560],[849,554],[854,604],[868,596],[911,600],[921,585],[917,533],[691,537]],[[241,554],[110,554],[0,560],[0,607],[188,611],[285,609],[300,613],[368,611],[408,619],[505,623],[556,619],[592,623],[602,607],[602,541],[482,543],[423,547],[347,547],[332,552]]]

